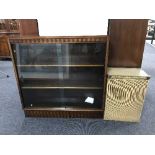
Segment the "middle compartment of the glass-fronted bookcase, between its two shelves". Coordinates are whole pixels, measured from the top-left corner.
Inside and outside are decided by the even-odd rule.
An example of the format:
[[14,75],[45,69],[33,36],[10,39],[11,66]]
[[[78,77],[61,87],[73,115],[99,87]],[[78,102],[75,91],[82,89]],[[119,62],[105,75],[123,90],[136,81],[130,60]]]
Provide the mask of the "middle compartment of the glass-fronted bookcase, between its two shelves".
[[22,86],[102,87],[103,67],[20,67]]

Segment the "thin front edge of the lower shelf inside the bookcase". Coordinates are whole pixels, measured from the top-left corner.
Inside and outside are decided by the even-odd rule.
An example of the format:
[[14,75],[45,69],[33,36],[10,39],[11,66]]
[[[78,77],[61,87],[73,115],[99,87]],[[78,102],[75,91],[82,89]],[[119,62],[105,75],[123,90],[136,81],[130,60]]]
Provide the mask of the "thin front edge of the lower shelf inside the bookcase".
[[22,89],[103,89],[103,87],[22,87]]

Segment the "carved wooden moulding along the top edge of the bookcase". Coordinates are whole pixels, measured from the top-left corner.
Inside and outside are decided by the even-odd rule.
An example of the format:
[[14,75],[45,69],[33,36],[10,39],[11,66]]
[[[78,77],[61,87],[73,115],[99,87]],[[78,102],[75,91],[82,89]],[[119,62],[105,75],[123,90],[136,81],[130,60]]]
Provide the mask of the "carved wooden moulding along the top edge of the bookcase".
[[106,42],[107,36],[72,36],[72,37],[22,37],[11,38],[11,43],[26,43],[26,44],[55,44],[55,43],[96,43]]

